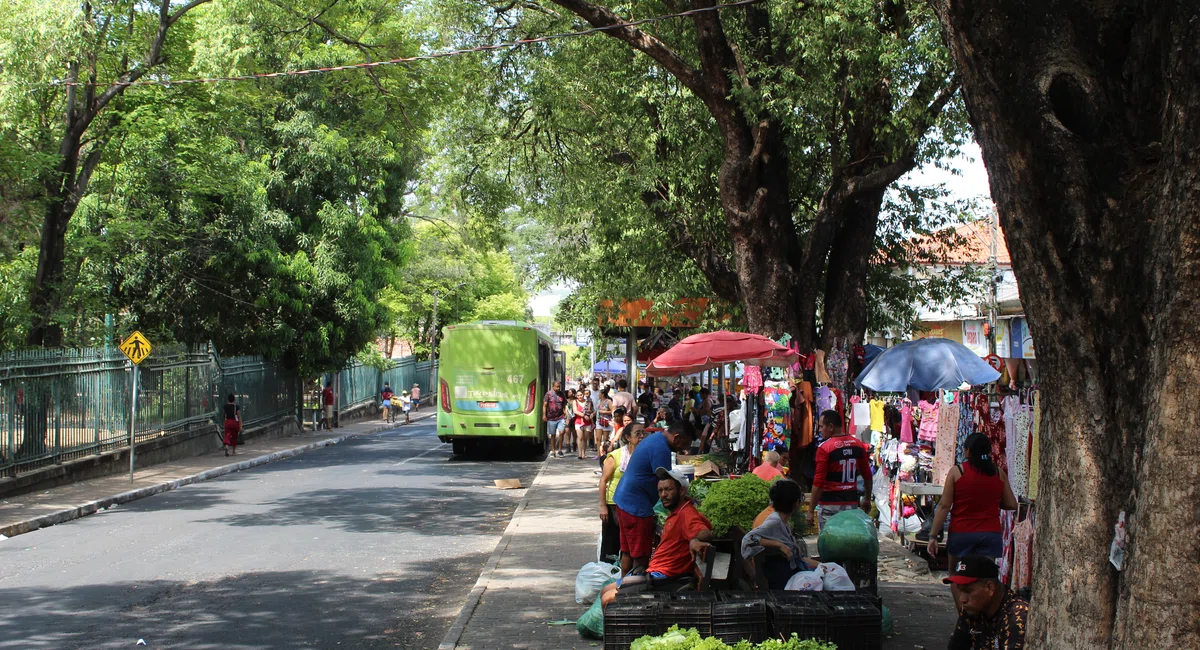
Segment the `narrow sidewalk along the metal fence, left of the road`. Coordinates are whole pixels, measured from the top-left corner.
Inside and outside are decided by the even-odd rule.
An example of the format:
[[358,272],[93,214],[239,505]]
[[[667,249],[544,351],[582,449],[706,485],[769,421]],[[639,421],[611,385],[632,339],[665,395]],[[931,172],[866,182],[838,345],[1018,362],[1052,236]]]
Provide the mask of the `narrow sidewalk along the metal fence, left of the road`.
[[[413,422],[432,415],[432,411],[420,414]],[[394,426],[400,425],[385,425],[378,417],[358,420],[332,431],[305,431],[287,438],[251,440],[250,444],[238,447],[236,457],[206,453],[145,469],[136,468],[132,483],[128,473],[124,473],[68,483],[44,492],[10,496],[0,500],[0,535],[12,537],[47,525],[70,522],[106,507],[337,444],[348,438],[368,435]]]

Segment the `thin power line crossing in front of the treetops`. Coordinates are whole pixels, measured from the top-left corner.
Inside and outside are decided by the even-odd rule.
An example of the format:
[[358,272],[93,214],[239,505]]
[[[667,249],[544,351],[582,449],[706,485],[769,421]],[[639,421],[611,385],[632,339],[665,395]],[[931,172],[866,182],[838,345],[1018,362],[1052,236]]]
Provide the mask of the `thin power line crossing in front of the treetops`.
[[618,30],[618,29],[636,28],[638,25],[646,25],[646,24],[649,24],[649,23],[659,23],[659,22],[662,22],[662,20],[673,20],[676,18],[686,18],[689,16],[696,16],[698,13],[706,13],[706,12],[710,12],[710,11],[720,11],[720,10],[725,10],[725,8],[734,8],[734,7],[744,7],[744,6],[748,6],[748,5],[757,5],[760,2],[766,2],[766,1],[767,0],[738,0],[737,2],[727,2],[727,4],[724,4],[724,5],[713,5],[712,7],[701,7],[701,8],[689,10],[689,11],[682,11],[679,13],[668,13],[668,14],[664,14],[664,16],[654,16],[654,17],[650,17],[650,18],[642,18],[640,20],[632,20],[632,22],[628,22],[628,23],[623,22],[623,23],[618,23],[616,25],[605,25],[602,28],[592,28],[592,29],[586,29],[586,30],[581,30],[581,31],[568,31],[568,32],[562,32],[562,34],[552,34],[552,35],[548,35],[548,36],[539,36],[536,38],[521,38],[521,40],[517,40],[517,41],[506,41],[506,42],[503,42],[503,43],[496,43],[493,46],[479,46],[479,47],[474,47],[474,48],[451,49],[451,50],[445,50],[445,52],[436,52],[436,53],[432,53],[432,54],[421,54],[421,55],[418,55],[418,56],[402,56],[400,59],[389,59],[389,60],[385,60],[385,61],[371,61],[371,62],[362,62],[362,64],[352,64],[352,65],[346,65],[346,66],[330,66],[330,67],[318,67],[318,68],[308,68],[308,70],[288,70],[288,71],[281,71],[281,72],[260,72],[260,73],[256,73],[256,74],[236,74],[236,76],[230,76],[230,77],[198,77],[198,78],[192,78],[192,79],[149,79],[149,80],[148,79],[140,79],[140,80],[137,80],[137,82],[124,82],[124,83],[122,82],[100,83],[100,82],[61,82],[61,80],[55,80],[55,82],[52,82],[52,85],[59,85],[59,86],[97,86],[97,88],[108,88],[108,86],[114,86],[114,85],[115,86],[163,86],[163,88],[170,88],[173,85],[185,85],[185,84],[217,84],[217,83],[224,83],[224,82],[250,82],[250,80],[254,80],[254,79],[274,79],[274,78],[280,78],[280,77],[301,77],[301,76],[307,76],[307,74],[324,74],[324,73],[328,73],[328,72],[343,72],[343,71],[348,71],[348,70],[367,70],[367,68],[374,68],[374,67],[380,67],[380,66],[395,66],[395,65],[400,65],[400,64],[410,64],[410,62],[414,62],[414,61],[432,61],[434,59],[446,59],[446,58],[450,58],[450,56],[461,56],[463,54],[475,54],[475,53],[480,53],[480,52],[493,52],[493,50],[498,50],[498,49],[516,48],[516,47],[529,46],[529,44],[534,44],[534,43],[546,43],[546,42],[550,42],[550,41],[557,41],[557,40],[562,40],[562,38],[574,38],[574,37],[578,37],[578,36],[589,36],[592,34],[599,34],[599,32],[612,31],[612,30]]

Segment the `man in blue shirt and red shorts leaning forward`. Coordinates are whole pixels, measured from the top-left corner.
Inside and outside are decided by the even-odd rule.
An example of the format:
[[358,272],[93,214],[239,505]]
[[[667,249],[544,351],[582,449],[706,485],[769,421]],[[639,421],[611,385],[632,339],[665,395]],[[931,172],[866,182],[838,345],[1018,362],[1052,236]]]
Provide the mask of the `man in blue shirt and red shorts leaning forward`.
[[620,571],[646,570],[654,549],[654,504],[659,501],[658,468],[670,468],[672,451],[686,451],[696,432],[685,421],[647,437],[634,450],[625,474],[617,483],[617,525],[620,528]]

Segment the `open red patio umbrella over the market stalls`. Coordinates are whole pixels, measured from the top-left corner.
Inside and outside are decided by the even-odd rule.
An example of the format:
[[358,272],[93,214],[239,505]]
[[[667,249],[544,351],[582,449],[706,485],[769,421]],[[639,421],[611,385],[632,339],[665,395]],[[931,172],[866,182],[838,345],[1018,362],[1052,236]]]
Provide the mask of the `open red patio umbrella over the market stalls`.
[[774,341],[746,332],[692,335],[659,355],[646,367],[650,377],[674,377],[740,361],[746,366],[791,366],[799,355]]

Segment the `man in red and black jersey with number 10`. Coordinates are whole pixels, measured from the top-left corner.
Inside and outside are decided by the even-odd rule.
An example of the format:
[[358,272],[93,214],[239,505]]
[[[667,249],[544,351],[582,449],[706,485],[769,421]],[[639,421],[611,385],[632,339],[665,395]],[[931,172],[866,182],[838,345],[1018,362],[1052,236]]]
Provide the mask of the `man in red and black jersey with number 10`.
[[[812,511],[809,528],[817,519],[824,528],[829,517],[862,506],[871,507],[871,452],[866,443],[846,433],[836,411],[821,414],[821,437],[817,447],[817,471],[812,476]],[[858,477],[863,477],[865,496],[858,499]]]

